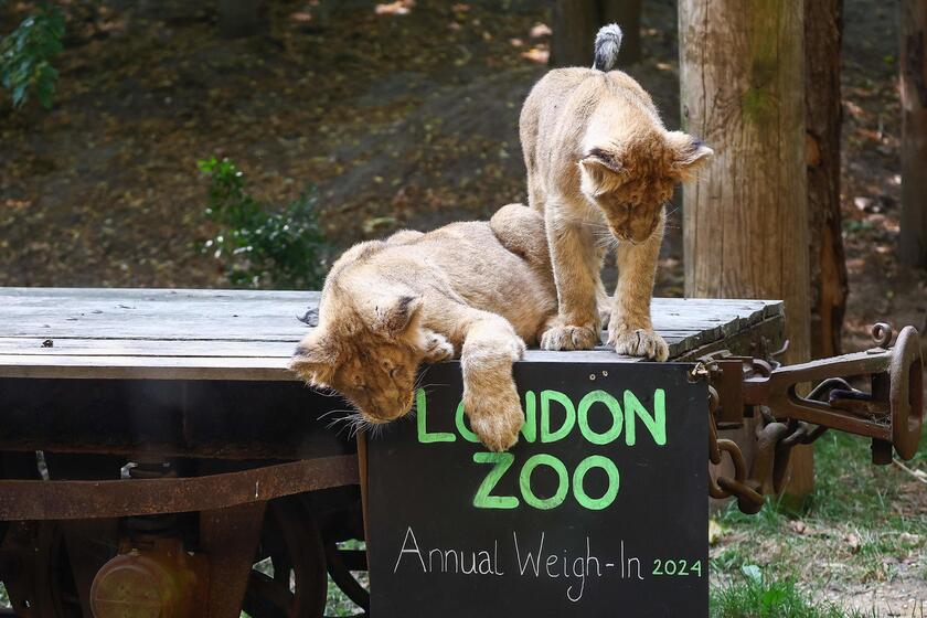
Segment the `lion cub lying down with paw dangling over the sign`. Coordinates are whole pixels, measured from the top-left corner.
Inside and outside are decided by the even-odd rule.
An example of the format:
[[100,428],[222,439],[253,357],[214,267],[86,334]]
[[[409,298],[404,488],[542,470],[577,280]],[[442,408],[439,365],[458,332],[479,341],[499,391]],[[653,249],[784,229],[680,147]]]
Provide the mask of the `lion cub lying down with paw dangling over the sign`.
[[290,367],[376,424],[409,411],[419,364],[459,354],[470,426],[488,448],[505,450],[524,423],[512,362],[556,307],[544,221],[510,204],[489,223],[351,247],[329,273],[319,326]]

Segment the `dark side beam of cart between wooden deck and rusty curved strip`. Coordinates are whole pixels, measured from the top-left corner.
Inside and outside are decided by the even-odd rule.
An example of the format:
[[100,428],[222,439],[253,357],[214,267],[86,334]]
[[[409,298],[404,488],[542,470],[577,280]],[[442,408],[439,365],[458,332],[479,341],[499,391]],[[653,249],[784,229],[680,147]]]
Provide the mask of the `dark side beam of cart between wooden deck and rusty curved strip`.
[[[339,408],[348,405],[298,382],[0,379],[0,451],[129,459],[140,452],[277,460],[348,455],[354,445],[347,431],[328,429]],[[118,475],[118,466],[110,471]]]

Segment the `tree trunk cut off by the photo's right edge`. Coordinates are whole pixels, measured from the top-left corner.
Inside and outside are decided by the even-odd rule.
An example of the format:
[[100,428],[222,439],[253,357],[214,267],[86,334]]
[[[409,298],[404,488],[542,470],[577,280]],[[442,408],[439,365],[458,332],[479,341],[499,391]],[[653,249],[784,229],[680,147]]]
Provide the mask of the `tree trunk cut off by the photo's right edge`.
[[902,263],[927,268],[927,7],[902,0]]

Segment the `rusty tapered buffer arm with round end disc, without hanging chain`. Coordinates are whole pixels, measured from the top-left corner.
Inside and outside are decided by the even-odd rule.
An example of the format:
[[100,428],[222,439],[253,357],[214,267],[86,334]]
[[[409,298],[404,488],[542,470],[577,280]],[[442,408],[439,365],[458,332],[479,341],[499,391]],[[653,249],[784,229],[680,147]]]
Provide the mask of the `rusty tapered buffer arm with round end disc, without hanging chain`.
[[[924,361],[917,330],[905,327],[894,348],[887,324],[873,327],[876,347],[853,354],[796,365],[774,366],[761,360],[718,353],[702,359],[717,390],[720,426],[743,424],[758,406],[775,420],[802,422],[865,436],[873,440],[873,461],[891,464],[892,449],[903,459],[917,452],[924,423]],[[865,379],[871,392],[846,379]],[[802,384],[817,385],[801,395]],[[827,397],[821,401],[821,395]],[[818,434],[820,435],[820,434]]]

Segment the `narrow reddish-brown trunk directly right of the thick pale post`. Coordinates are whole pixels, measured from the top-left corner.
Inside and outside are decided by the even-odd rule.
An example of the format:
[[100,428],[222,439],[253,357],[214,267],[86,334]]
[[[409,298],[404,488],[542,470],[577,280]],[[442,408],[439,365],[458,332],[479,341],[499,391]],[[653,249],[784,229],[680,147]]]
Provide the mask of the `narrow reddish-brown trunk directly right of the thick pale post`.
[[840,217],[840,42],[843,0],[805,3],[811,355],[840,354],[846,259]]

